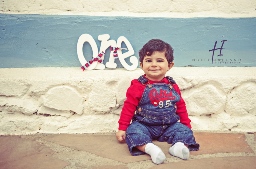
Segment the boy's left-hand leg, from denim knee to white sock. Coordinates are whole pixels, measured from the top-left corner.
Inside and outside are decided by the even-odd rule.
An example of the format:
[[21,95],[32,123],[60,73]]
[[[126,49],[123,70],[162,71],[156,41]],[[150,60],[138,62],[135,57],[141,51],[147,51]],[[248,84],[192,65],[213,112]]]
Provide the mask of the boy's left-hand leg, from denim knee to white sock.
[[[152,143],[150,128],[137,121],[126,130],[126,143],[133,156],[150,154],[151,159],[156,164],[161,164],[165,160],[165,155],[161,148]],[[138,151],[140,150],[140,151]]]

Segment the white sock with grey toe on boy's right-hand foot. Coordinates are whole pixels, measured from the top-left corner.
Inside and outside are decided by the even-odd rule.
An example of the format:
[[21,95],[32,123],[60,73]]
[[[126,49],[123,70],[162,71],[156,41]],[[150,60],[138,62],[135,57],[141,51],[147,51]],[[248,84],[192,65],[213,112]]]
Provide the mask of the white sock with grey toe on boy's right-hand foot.
[[184,143],[177,142],[169,148],[169,153],[175,157],[187,160],[189,157],[189,150]]

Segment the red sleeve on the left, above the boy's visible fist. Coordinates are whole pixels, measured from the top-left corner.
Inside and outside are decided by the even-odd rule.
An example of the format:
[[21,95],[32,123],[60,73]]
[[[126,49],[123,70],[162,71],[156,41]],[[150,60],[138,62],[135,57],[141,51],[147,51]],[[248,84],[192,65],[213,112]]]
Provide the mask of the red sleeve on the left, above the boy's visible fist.
[[126,92],[126,101],[124,101],[124,107],[121,112],[119,123],[119,130],[126,131],[130,125],[134,112],[136,111],[137,105],[140,102],[145,85],[142,85],[137,80],[132,80],[131,86]]

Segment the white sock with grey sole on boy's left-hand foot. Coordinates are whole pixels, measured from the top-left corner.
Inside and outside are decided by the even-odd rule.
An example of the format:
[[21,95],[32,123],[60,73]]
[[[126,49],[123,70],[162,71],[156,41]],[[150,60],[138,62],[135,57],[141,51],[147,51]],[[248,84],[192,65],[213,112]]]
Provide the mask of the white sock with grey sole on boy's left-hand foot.
[[145,152],[151,156],[151,159],[155,164],[161,164],[165,160],[165,155],[161,148],[153,143],[148,143],[146,145]]

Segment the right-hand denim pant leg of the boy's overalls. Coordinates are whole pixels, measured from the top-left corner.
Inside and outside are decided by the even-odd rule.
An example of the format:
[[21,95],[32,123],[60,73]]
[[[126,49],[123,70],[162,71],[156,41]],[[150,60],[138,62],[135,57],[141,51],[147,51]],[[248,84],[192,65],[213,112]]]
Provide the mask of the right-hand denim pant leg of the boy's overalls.
[[167,125],[165,131],[157,140],[159,142],[172,143],[172,146],[177,142],[187,144],[189,145],[189,151],[197,151],[199,149],[199,144],[196,143],[193,131],[180,122]]

